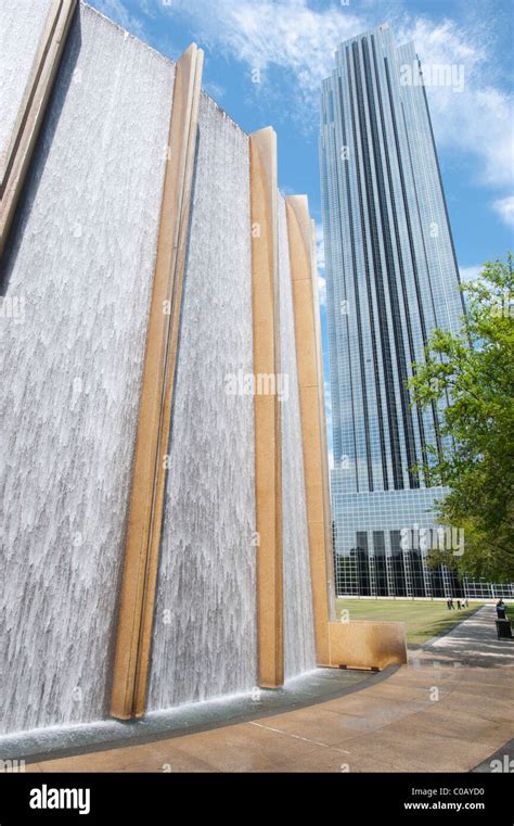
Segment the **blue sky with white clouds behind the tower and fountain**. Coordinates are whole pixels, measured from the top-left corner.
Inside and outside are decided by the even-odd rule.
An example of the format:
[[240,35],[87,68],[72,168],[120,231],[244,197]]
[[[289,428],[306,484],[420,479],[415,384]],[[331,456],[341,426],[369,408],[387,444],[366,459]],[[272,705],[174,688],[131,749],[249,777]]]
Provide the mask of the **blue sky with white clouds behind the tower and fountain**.
[[[398,42],[414,40],[425,66],[464,66],[462,92],[427,89],[464,278],[514,247],[513,0],[89,2],[174,60],[201,46],[204,88],[247,132],[275,128],[280,188],[307,193],[319,225],[321,79],[338,42],[388,22]],[[323,297],[321,228],[319,240]]]

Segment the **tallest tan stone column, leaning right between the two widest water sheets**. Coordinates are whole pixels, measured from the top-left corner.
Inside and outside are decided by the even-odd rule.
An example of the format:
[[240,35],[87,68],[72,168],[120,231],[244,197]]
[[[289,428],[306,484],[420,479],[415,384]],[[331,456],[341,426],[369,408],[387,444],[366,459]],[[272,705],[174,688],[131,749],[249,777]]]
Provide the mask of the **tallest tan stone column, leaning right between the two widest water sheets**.
[[112,690],[111,713],[121,720],[146,704],[202,66],[193,45],[175,76]]

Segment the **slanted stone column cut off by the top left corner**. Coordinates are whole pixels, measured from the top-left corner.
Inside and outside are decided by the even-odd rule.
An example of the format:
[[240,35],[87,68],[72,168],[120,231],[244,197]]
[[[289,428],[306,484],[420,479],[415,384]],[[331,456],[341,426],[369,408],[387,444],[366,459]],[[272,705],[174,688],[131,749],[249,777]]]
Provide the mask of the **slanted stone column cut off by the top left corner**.
[[77,0],[53,0],[17,113],[11,143],[0,160],[0,258],[53,89]]

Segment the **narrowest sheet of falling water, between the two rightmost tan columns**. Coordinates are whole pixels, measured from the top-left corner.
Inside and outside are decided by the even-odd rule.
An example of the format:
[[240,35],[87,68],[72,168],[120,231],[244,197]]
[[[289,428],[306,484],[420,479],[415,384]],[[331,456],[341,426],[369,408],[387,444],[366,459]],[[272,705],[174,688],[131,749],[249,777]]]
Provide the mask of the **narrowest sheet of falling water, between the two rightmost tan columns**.
[[280,346],[287,393],[282,414],[285,677],[316,668],[309,536],[285,201],[279,198]]

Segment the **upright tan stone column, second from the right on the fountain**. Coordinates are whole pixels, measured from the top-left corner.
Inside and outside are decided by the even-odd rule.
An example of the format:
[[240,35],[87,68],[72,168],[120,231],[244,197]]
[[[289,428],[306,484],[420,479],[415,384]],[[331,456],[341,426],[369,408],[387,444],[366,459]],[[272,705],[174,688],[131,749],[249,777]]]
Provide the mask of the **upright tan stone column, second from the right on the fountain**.
[[258,393],[259,377],[280,366],[279,214],[277,135],[267,127],[250,136],[252,270],[255,394],[257,617],[259,685],[284,682],[282,571],[282,435],[279,396]]

